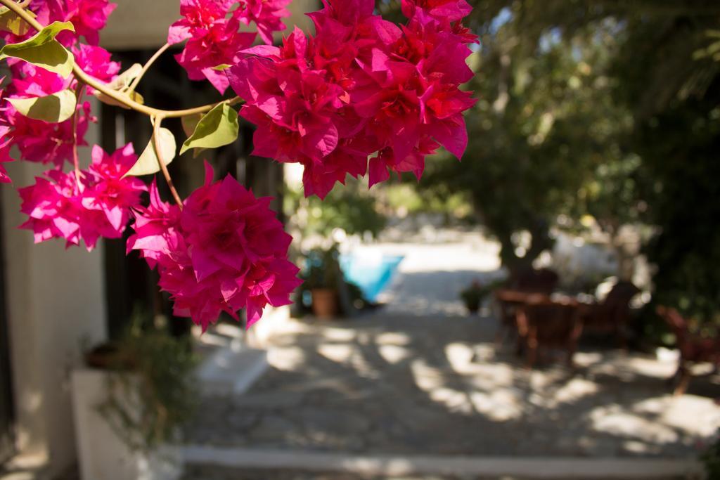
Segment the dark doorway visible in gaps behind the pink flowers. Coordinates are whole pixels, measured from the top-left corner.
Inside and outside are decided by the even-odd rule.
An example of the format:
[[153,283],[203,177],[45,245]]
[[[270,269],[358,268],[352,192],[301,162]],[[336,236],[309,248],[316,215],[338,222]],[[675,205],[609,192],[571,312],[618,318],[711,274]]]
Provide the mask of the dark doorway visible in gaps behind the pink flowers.
[[[128,68],[133,63],[145,63],[153,53],[152,50],[114,52],[113,58],[122,61],[123,68]],[[163,109],[184,109],[220,100],[219,94],[210,83],[189,81],[187,74],[171,53],[163,55],[140,83],[138,91],[143,94],[148,104]],[[233,95],[228,89],[226,96]],[[122,147],[126,142],[132,142],[135,145],[135,152],[139,154],[152,135],[147,117],[137,112],[103,105],[99,117],[102,147],[108,152]],[[163,122],[163,127],[174,133],[178,144],[184,141],[186,135],[179,119],[167,119]],[[241,122],[240,136],[232,145],[217,150],[207,150],[198,158],[192,158],[192,153],[186,153],[184,158],[176,159],[168,169],[180,195],[186,197],[202,185],[204,175],[202,161],[207,159],[215,168],[216,179],[229,174],[251,188],[257,196],[276,197],[272,206],[276,212],[281,212],[282,166],[266,158],[252,157],[251,140],[251,126]],[[170,198],[161,180],[158,180],[158,189],[163,199]],[[125,243],[131,233],[132,230],[129,228],[125,238],[106,240],[104,243],[110,337],[117,338],[122,335],[133,312],[162,315],[170,320],[168,325],[174,335],[186,334],[189,332],[190,320],[172,317],[168,296],[158,291],[157,273],[150,271],[137,253],[126,255]]]

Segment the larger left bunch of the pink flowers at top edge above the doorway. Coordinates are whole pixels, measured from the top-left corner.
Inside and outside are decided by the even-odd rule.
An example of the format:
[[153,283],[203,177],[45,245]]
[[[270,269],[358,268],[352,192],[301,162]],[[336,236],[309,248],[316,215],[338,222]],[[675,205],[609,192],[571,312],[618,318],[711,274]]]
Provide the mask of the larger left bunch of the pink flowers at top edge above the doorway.
[[255,40],[254,33],[238,32],[238,17],[228,18],[233,3],[230,0],[181,0],[180,14],[184,18],[168,30],[171,45],[187,40],[175,58],[189,78],[207,78],[221,94],[229,85],[222,66],[236,63],[240,50]]

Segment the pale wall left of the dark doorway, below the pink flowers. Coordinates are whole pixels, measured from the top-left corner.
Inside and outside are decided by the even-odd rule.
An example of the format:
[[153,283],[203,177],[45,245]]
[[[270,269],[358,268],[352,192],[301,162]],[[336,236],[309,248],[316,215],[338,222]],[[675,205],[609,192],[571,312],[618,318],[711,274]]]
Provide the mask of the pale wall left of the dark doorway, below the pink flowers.
[[[96,138],[91,127],[87,140]],[[89,161],[87,152],[85,161]],[[65,249],[60,241],[33,245],[32,232],[17,228],[17,188],[44,168],[6,163],[12,186],[1,186],[5,283],[17,412],[19,453],[45,457],[51,472],[75,461],[70,372],[81,364],[83,343],[107,338],[102,252]]]

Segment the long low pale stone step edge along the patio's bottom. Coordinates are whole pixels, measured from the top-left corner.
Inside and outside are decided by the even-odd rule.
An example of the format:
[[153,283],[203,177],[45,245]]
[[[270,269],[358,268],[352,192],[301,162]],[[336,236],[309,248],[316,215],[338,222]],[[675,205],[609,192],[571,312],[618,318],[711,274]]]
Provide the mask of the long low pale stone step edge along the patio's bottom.
[[[186,445],[186,465],[214,468],[284,469],[306,472],[343,472],[362,476],[406,478],[412,475],[507,477],[520,479],[652,479],[696,478],[702,467],[695,458],[577,458],[514,456],[392,456],[342,452],[217,448]],[[219,479],[222,477],[218,477]],[[231,478],[228,476],[228,479]],[[327,478],[332,478],[328,476]],[[339,478],[346,478],[338,476]],[[699,478],[699,477],[697,477]]]

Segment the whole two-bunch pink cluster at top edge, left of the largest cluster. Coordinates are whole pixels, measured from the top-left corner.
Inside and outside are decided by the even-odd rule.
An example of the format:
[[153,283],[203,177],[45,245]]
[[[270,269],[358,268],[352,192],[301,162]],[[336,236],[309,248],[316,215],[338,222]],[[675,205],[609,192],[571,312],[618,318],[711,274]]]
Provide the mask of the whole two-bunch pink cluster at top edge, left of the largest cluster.
[[255,41],[256,35],[240,32],[240,23],[255,22],[262,39],[272,43],[272,32],[283,30],[282,17],[289,12],[284,8],[289,0],[244,0],[236,9],[235,0],[181,0],[183,16],[168,30],[168,43],[187,40],[176,60],[185,68],[191,80],[207,78],[215,88],[224,93],[228,78],[223,72],[225,65],[234,65],[240,59],[240,51]]

